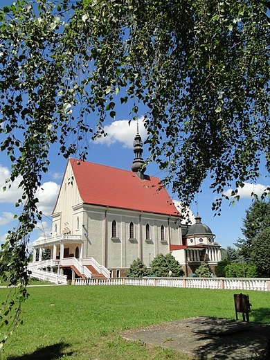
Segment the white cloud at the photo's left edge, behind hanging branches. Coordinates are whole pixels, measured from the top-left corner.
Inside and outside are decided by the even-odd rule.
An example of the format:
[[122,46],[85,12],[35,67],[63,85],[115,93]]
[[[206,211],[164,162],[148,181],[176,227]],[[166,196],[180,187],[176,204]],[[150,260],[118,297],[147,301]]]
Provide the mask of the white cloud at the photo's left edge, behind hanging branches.
[[6,179],[10,177],[10,170],[5,166],[0,165],[0,203],[15,203],[21,197],[22,189],[18,188],[20,183],[20,178],[15,179],[15,181],[10,182],[11,187],[6,188],[6,191],[3,191],[3,186],[6,186]]

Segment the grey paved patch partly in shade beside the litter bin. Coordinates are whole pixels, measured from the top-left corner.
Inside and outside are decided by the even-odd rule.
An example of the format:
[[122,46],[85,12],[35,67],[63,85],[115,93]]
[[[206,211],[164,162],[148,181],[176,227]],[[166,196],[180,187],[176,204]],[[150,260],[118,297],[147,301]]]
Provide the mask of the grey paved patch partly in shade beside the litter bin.
[[189,354],[192,359],[247,360],[264,352],[270,325],[200,316],[126,330],[121,335]]

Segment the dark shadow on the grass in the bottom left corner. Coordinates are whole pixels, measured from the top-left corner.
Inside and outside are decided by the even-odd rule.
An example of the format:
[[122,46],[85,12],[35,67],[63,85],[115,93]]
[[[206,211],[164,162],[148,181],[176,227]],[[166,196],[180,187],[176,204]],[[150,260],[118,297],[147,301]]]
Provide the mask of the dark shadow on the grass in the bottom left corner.
[[[42,346],[30,354],[8,357],[8,360],[56,360],[64,355],[64,349],[68,346],[69,344],[67,343],[56,343],[53,345]],[[71,354],[72,353],[66,355]]]

